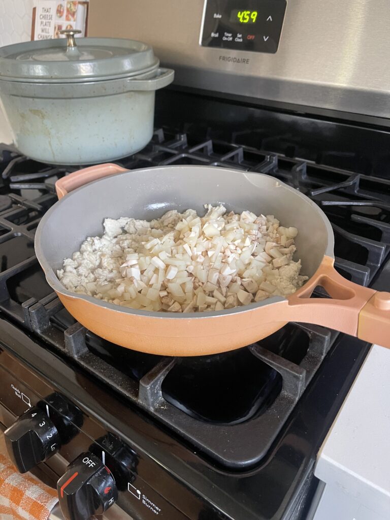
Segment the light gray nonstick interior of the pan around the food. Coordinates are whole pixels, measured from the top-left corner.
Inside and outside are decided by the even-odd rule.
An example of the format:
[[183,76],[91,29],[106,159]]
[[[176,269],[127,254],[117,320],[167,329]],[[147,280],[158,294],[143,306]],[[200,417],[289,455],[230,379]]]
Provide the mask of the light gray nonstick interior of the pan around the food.
[[[96,180],[69,193],[41,219],[35,235],[35,252],[48,283],[57,292],[97,305],[130,313],[180,318],[183,314],[150,313],[101,302],[66,290],[57,278],[64,258],[80,249],[89,236],[102,235],[105,218],[121,216],[151,220],[166,211],[192,208],[204,214],[203,204],[224,204],[228,211],[275,215],[283,226],[298,228],[296,258],[301,274],[313,276],[323,255],[333,257],[333,231],[326,215],[309,198],[268,175],[213,166],[162,166],[133,170]],[[201,317],[240,312],[282,298],[218,313],[189,313]]]

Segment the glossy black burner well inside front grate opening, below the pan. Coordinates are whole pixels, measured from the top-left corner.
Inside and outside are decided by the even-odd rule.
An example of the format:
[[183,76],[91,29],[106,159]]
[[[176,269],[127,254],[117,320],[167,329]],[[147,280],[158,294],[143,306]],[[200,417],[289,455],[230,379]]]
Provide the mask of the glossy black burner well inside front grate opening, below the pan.
[[264,412],[281,387],[281,375],[243,348],[180,359],[166,375],[162,395],[195,419],[232,425]]

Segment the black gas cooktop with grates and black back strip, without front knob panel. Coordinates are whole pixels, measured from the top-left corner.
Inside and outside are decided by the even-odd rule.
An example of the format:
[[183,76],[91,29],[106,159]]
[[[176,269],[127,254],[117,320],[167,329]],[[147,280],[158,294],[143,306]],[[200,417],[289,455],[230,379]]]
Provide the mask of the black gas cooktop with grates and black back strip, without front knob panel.
[[[381,288],[390,251],[390,160],[380,144],[388,134],[234,103],[221,111],[222,102],[192,96],[187,103],[188,97],[162,93],[152,141],[117,162],[129,169],[204,164],[274,176],[327,214],[336,269]],[[186,485],[195,486],[191,475],[197,479],[201,467],[209,486],[198,482],[197,491],[222,513],[289,518],[309,493],[316,450],[368,345],[302,323],[235,352],[199,358],[147,355],[102,340],[63,308],[34,255],[35,229],[57,200],[56,179],[78,168],[37,163],[5,146],[0,154],[0,331],[5,323],[16,327],[195,454]],[[316,296],[328,297],[320,288]],[[229,493],[224,511],[219,499]]]

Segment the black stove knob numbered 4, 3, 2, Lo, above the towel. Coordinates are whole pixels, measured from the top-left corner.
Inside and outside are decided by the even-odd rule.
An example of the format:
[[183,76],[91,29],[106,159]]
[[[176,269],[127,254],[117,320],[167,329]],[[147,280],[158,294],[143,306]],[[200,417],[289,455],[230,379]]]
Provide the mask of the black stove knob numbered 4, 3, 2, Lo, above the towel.
[[39,408],[30,408],[4,432],[9,458],[20,473],[44,462],[61,447],[57,428]]

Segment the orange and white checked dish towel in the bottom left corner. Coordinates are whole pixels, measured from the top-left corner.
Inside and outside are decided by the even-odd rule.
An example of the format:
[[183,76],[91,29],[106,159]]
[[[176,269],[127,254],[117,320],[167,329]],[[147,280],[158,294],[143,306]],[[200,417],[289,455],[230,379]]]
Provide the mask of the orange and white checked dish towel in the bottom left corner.
[[0,520],[47,520],[57,491],[27,473],[21,475],[0,453]]

